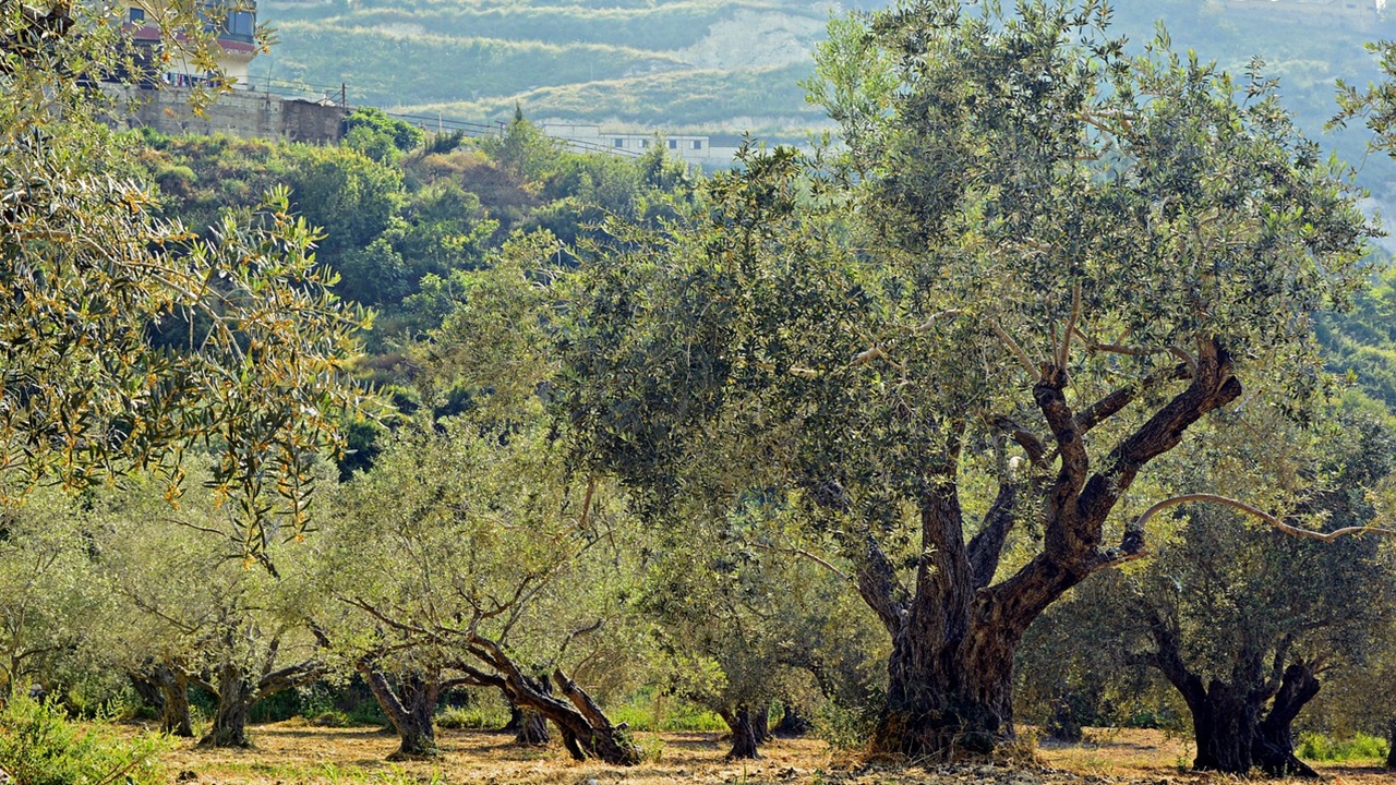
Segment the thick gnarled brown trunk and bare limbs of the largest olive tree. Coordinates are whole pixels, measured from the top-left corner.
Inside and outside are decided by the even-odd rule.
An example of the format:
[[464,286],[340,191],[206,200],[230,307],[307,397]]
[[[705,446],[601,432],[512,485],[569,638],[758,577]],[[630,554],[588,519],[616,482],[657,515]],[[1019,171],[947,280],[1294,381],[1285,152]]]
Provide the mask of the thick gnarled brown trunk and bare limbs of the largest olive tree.
[[[910,596],[875,541],[868,538],[852,553],[859,592],[893,641],[875,750],[909,757],[980,753],[1012,736],[1012,663],[1027,626],[1090,573],[1142,550],[1141,531],[1129,531],[1118,548],[1104,546],[1106,518],[1149,461],[1173,450],[1198,419],[1241,392],[1227,353],[1215,341],[1201,341],[1191,384],[1092,471],[1085,433],[1128,405],[1138,388],[1107,395],[1076,415],[1067,402],[1067,384],[1064,369],[1046,366],[1033,388],[1051,429],[1058,471],[1044,487],[1043,550],[1016,574],[988,585],[1013,489],[1001,487],[980,536],[965,543],[955,486],[963,427],[953,423],[946,427],[951,437],[942,460],[924,461],[927,489],[917,500],[923,556]],[[842,503],[836,494],[817,499]]]

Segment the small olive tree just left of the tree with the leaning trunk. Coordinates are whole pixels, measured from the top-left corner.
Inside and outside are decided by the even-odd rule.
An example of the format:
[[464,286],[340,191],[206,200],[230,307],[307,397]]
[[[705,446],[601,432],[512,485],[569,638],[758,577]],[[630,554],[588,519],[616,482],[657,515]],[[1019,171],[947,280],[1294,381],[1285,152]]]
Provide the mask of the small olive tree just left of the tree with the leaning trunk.
[[200,686],[216,700],[201,744],[244,747],[253,707],[329,670],[317,634],[325,601],[309,549],[288,549],[275,568],[244,556],[239,513],[208,474],[177,508],[149,478],[92,500],[94,571],[117,605],[101,637],[159,687],[166,731],[193,735],[187,690]]

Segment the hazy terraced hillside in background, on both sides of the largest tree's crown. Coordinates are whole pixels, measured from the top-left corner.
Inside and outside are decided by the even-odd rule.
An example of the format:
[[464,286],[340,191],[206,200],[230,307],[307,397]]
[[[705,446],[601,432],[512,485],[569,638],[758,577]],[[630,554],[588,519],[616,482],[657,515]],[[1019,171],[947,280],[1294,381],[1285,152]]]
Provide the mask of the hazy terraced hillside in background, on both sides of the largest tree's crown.
[[[859,0],[881,4],[882,0]],[[1175,45],[1240,73],[1259,54],[1301,124],[1321,131],[1333,80],[1375,77],[1365,41],[1385,21],[1314,15],[1234,0],[1117,0],[1114,31],[1142,42],[1163,18]],[[611,129],[800,135],[824,122],[799,81],[832,0],[264,0],[281,43],[254,82],[338,92],[426,116],[533,119]],[[268,81],[269,80],[269,81]],[[1347,156],[1358,141],[1335,140]]]

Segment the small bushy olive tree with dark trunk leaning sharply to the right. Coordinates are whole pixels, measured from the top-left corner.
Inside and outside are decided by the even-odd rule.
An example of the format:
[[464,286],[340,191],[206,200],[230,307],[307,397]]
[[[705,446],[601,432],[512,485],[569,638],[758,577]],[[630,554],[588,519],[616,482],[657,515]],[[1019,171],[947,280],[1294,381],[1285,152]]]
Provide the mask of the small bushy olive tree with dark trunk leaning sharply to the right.
[[[431,754],[431,696],[470,684],[551,721],[578,760],[635,763],[574,680],[586,638],[618,613],[593,602],[606,559],[624,559],[610,494],[567,482],[543,427],[466,415],[438,429],[399,432],[345,489],[332,535],[343,545],[335,591],[362,612],[352,640],[398,728],[398,754]],[[419,703],[392,693],[391,669],[422,682]]]

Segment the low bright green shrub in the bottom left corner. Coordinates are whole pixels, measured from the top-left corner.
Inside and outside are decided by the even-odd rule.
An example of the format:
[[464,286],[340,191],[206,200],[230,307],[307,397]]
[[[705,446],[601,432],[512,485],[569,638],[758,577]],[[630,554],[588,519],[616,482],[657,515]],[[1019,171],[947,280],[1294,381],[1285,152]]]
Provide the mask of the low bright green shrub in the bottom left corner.
[[102,722],[73,722],[56,701],[17,697],[0,711],[0,768],[25,785],[156,785],[163,736],[117,735]]

